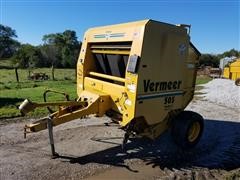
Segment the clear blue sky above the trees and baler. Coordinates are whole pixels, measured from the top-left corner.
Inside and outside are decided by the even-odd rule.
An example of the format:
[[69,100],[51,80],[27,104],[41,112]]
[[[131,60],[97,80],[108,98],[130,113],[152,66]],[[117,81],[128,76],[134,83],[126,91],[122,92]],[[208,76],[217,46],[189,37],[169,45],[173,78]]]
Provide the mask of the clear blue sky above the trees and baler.
[[202,53],[240,49],[239,0],[0,0],[0,23],[18,40],[42,44],[48,33],[75,30],[79,40],[90,27],[154,19],[191,24],[191,40]]

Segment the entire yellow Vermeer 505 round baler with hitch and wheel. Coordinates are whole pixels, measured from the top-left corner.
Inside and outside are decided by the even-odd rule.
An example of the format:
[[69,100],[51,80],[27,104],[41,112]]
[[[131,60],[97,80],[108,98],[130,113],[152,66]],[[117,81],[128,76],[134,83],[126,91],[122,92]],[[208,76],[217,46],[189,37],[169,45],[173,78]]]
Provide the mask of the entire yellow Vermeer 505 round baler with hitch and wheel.
[[[83,39],[77,63],[79,98],[68,101],[66,94],[60,93],[67,101],[25,100],[20,106],[23,114],[45,106],[51,113],[26,125],[25,134],[48,128],[52,154],[56,155],[53,126],[112,112],[126,131],[123,146],[130,134],[155,139],[169,128],[180,146],[197,144],[203,118],[183,111],[194,96],[201,55],[190,41],[190,25],[143,20],[92,28]],[[52,112],[49,106],[59,106],[59,110]]]

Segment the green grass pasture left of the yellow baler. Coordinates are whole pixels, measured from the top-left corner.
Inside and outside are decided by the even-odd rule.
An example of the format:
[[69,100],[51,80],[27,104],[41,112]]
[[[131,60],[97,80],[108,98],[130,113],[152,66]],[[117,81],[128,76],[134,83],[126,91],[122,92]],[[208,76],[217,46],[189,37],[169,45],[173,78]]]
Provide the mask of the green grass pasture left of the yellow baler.
[[[35,69],[34,72],[51,74],[51,69]],[[28,98],[33,102],[43,102],[43,92],[46,89],[66,92],[70,99],[76,98],[76,83],[74,69],[56,69],[55,81],[32,81],[27,79],[28,70],[19,69],[19,83],[16,82],[13,69],[0,69],[0,118],[20,116],[17,107]],[[62,95],[50,93],[49,101],[64,100]],[[47,115],[46,108],[36,109],[28,116]]]

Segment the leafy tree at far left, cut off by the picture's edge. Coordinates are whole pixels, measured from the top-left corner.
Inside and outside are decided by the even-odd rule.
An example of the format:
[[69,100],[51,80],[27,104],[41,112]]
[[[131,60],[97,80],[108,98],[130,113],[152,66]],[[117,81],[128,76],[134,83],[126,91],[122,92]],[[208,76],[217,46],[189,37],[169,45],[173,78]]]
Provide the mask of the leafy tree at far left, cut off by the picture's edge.
[[0,24],[0,58],[9,58],[17,51],[20,43],[14,38],[17,38],[16,31]]

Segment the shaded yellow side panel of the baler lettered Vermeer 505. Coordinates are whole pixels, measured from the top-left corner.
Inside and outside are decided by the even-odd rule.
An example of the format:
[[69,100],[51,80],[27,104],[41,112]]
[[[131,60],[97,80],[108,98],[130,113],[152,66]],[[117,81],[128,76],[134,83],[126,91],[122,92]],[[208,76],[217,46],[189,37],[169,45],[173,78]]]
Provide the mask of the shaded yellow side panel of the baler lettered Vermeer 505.
[[145,27],[136,116],[144,116],[149,124],[164,120],[173,109],[183,109],[192,99],[188,94],[183,101],[193,87],[198,57],[195,52],[189,57],[189,43],[185,28],[155,21]]

